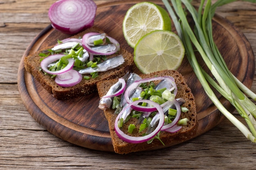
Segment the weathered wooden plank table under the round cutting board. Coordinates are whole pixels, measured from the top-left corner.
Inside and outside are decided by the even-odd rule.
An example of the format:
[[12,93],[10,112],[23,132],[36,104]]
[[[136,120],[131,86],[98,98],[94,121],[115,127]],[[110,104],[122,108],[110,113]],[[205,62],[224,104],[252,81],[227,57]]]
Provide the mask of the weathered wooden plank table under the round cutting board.
[[[109,1],[95,0],[97,4]],[[22,103],[17,71],[27,46],[49,25],[47,12],[54,2],[0,0],[1,170],[256,169],[256,145],[227,120],[183,144],[128,155],[82,148],[40,126]],[[219,7],[216,13],[234,23],[256,51],[256,4],[238,1]],[[254,92],[255,80],[256,76],[251,88]],[[234,114],[243,121],[238,113]]]

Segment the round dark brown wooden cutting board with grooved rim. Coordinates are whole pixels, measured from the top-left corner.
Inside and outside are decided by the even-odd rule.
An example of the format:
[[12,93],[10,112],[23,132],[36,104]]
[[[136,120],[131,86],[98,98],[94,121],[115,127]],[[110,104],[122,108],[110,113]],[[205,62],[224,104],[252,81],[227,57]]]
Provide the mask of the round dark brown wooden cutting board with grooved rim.
[[[121,48],[125,48],[131,53],[133,53],[133,49],[124,39],[122,22],[126,11],[137,2],[139,1],[101,4],[98,6],[94,22],[95,26],[118,40]],[[162,2],[155,2],[164,7]],[[175,31],[174,26],[173,31]],[[254,55],[243,33],[224,18],[215,16],[213,34],[231,72],[246,86],[251,87],[255,69]],[[54,30],[49,25],[28,46],[18,69],[18,88],[22,101],[31,116],[57,137],[85,148],[113,151],[108,121],[104,117],[103,111],[98,108],[99,96],[97,93],[60,101],[47,93],[39,82],[25,71],[23,60],[27,55],[69,36]],[[186,79],[197,105],[199,127],[195,136],[188,137],[189,140],[210,130],[225,117],[204,93],[186,57],[178,71]],[[227,109],[234,110],[225,99],[220,97],[220,100]]]

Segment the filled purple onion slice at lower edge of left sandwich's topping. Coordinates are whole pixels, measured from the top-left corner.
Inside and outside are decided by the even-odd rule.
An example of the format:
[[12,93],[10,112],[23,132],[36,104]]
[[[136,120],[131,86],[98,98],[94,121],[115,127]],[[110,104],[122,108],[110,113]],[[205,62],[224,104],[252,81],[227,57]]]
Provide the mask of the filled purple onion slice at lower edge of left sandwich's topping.
[[55,77],[55,82],[61,87],[71,87],[79,84],[82,80],[82,75],[78,71],[71,69]]

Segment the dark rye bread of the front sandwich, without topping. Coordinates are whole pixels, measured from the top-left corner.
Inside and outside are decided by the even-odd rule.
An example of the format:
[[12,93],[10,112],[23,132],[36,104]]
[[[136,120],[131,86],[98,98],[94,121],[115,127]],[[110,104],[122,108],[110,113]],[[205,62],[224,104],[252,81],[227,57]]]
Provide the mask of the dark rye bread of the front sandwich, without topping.
[[[184,141],[191,139],[193,136],[195,136],[196,130],[198,128],[195,99],[191,92],[191,89],[187,86],[184,80],[184,77],[179,72],[173,71],[173,70],[159,71],[159,72],[150,73],[147,75],[140,75],[140,76],[141,78],[149,78],[149,77],[164,76],[164,75],[172,76],[175,79],[175,82],[178,88],[176,98],[182,97],[186,101],[186,103],[183,104],[182,106],[187,107],[189,111],[186,113],[182,113],[181,119],[185,117],[188,118],[189,119],[188,124],[186,126],[182,126],[182,129],[176,133],[169,133],[169,132],[162,131],[160,133],[160,139],[164,142],[165,146],[163,146],[163,144],[158,139],[154,139],[151,144],[147,144],[146,142],[139,143],[139,144],[130,144],[119,139],[119,137],[117,137],[115,133],[114,126],[115,126],[115,119],[117,115],[114,114],[114,110],[112,109],[104,110],[104,114],[108,120],[110,135],[111,135],[112,144],[115,152],[119,154],[127,154],[130,152],[159,149],[159,148],[164,148],[164,147],[173,146],[175,144],[182,143]],[[105,95],[108,89],[110,88],[110,86],[115,82],[117,82],[117,79],[115,79],[115,81],[109,80],[109,81],[98,82],[97,88],[98,88],[99,96],[102,97],[103,95]],[[131,118],[129,122],[126,123],[126,126],[123,128],[127,129],[130,123],[136,124],[136,122],[137,122],[136,118]],[[136,130],[138,131],[139,126],[136,126],[136,127],[137,127]],[[124,132],[127,133],[126,130]],[[133,134],[133,136],[136,136],[136,131],[135,131],[135,134]]]

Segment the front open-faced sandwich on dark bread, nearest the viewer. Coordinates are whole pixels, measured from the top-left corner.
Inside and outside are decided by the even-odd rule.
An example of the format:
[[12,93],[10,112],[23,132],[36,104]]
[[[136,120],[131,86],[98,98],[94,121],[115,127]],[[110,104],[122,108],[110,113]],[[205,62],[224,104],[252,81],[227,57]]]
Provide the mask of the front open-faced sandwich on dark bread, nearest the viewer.
[[184,77],[173,70],[97,82],[115,152],[173,146],[195,136],[196,106]]

